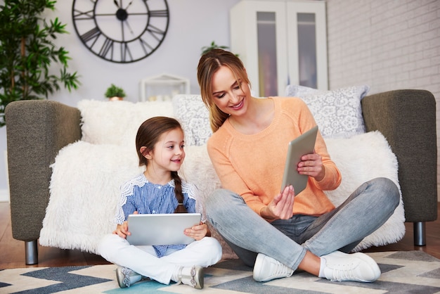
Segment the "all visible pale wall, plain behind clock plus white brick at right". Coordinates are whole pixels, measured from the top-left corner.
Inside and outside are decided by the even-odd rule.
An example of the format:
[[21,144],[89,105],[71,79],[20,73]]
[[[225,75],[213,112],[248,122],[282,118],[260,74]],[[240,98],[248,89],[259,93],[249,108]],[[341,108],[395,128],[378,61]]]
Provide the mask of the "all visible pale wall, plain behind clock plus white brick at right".
[[[196,67],[200,49],[215,40],[229,45],[229,9],[239,0],[168,0],[167,37],[153,55],[134,64],[102,60],[84,47],[72,25],[72,0],[58,0],[56,15],[71,33],[60,38],[73,58],[71,70],[81,75],[82,87],[63,90],[53,100],[76,106],[83,98],[104,99],[110,83],[126,89],[129,101],[138,99],[141,78],[163,72],[188,77],[191,92],[199,93]],[[368,84],[370,93],[413,88],[440,98],[439,0],[327,0],[330,88]],[[240,30],[240,28],[237,28]],[[437,112],[440,103],[437,103]],[[438,120],[438,119],[437,119]],[[437,122],[438,128],[440,127]],[[440,139],[440,138],[439,138]],[[438,143],[438,145],[440,145]],[[0,200],[7,193],[3,151],[6,128],[0,128]]]

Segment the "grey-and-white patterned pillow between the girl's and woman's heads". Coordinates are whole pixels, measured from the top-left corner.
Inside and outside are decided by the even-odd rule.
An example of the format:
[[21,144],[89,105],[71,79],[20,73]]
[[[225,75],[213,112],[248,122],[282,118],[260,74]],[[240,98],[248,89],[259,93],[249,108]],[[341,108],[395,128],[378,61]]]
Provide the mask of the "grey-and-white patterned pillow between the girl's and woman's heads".
[[200,95],[176,95],[172,99],[174,113],[185,132],[187,146],[205,144],[212,135],[209,111]]

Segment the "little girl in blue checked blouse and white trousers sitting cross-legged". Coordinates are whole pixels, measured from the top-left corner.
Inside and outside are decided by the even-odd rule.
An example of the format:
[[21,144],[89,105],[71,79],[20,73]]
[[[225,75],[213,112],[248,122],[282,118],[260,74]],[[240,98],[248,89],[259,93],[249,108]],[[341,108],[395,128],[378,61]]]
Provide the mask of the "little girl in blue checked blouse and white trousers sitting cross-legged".
[[195,198],[197,189],[177,174],[185,158],[183,142],[183,129],[174,118],[153,117],[138,129],[136,150],[139,165],[145,165],[146,170],[122,185],[116,230],[105,236],[98,248],[101,256],[119,265],[116,276],[121,288],[148,277],[164,284],[174,281],[201,289],[202,267],[221,259],[221,245],[207,237],[205,216],[200,225],[185,230],[195,239],[188,245],[134,246],[126,240],[130,214],[202,212]]

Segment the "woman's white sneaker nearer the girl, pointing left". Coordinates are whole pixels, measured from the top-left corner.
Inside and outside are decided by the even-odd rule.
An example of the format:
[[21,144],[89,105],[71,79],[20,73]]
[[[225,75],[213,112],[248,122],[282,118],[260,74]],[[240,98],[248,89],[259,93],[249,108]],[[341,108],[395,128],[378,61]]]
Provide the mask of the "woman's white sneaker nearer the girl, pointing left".
[[268,257],[263,253],[257,255],[254,264],[254,280],[257,282],[267,282],[273,279],[287,278],[292,276],[293,269]]

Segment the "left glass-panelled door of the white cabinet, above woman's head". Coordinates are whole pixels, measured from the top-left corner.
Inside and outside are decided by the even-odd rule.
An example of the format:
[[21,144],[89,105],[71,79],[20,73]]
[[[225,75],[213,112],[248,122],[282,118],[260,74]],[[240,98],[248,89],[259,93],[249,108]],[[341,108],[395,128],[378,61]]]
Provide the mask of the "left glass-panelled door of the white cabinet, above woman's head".
[[240,1],[231,9],[231,51],[245,65],[256,96],[284,94],[287,85],[285,1]]

